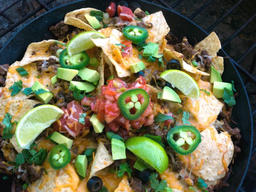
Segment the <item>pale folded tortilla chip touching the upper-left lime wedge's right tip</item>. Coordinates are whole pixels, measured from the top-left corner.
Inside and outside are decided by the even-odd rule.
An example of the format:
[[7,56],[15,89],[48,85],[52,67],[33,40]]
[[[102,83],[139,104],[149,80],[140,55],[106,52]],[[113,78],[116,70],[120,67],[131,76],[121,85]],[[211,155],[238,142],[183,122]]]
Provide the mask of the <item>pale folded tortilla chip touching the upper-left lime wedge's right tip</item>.
[[[112,30],[112,33],[109,38],[105,39],[92,39],[94,44],[97,47],[101,47],[103,50],[103,53],[106,55],[105,61],[108,65],[114,65],[116,68],[116,72],[118,77],[127,77],[130,76],[130,70],[124,69],[120,64],[118,64],[114,59],[113,59],[113,50],[111,45],[120,43],[118,40],[120,37],[122,37],[122,33],[116,29]],[[110,68],[111,69],[111,68]]]

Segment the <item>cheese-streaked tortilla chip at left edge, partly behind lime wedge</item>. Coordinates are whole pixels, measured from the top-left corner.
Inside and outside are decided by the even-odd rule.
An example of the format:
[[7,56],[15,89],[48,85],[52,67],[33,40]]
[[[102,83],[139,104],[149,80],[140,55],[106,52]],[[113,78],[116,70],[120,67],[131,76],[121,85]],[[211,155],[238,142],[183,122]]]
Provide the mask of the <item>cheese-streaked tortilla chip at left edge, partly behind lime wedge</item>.
[[[0,107],[0,126],[5,127],[5,125],[2,123],[2,120],[4,119],[6,113],[9,113],[12,116],[11,122],[14,122],[15,120],[19,122],[21,117],[29,110],[31,110],[37,103],[40,102],[29,99],[22,99],[16,101],[11,100],[7,102],[5,105]],[[12,132],[15,132],[15,129],[16,124],[12,126]],[[16,151],[18,151],[18,153],[21,153],[22,149],[18,146],[14,136],[10,139],[10,142],[12,143]]]

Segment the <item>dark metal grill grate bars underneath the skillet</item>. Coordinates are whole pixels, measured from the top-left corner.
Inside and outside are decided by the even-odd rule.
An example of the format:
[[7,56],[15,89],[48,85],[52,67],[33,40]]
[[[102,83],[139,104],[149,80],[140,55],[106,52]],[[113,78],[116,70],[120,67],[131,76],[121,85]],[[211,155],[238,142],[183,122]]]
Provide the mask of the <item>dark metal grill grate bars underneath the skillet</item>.
[[[51,8],[49,7],[49,4],[51,4],[52,2],[54,2],[55,0],[47,0],[47,1],[43,1],[43,0],[32,0],[34,3],[37,2],[39,4],[38,7],[35,7],[33,10],[31,10],[30,12],[28,12],[27,14],[25,14],[25,16],[23,16],[20,20],[17,20],[16,22],[13,21],[13,19],[11,17],[9,17],[7,14],[5,14],[5,11],[7,11],[8,9],[10,9],[11,7],[15,6],[16,4],[18,4],[19,2],[22,1],[21,4],[21,10],[23,12],[23,14],[25,14],[25,7],[31,7],[28,5],[27,0],[14,0],[13,2],[9,3],[8,5],[2,7],[0,9],[0,15],[2,17],[4,17],[7,21],[9,21],[9,23],[11,24],[8,28],[6,28],[5,30],[2,30],[0,32],[0,38],[2,38],[3,36],[5,36],[7,33],[9,33],[10,31],[14,30],[17,26],[19,26],[21,23],[23,23],[24,21],[26,21],[27,19],[33,17],[34,15],[39,15],[40,13],[44,12],[44,11],[48,11]],[[58,0],[57,0],[58,1]],[[66,2],[70,2],[71,0],[67,0]],[[149,0],[151,2],[151,0]],[[164,0],[156,0],[156,1],[152,1],[152,2],[156,2],[164,7],[167,7],[171,10],[175,10],[176,7],[178,7],[181,3],[187,2],[188,0],[177,0],[174,3],[171,4],[170,1],[164,1]],[[235,11],[236,8],[238,8],[238,6],[244,2],[245,0],[238,0],[234,5],[230,5],[230,9],[226,10],[224,14],[222,14],[222,16],[220,16],[219,18],[217,18],[216,21],[214,21],[212,23],[212,25],[210,25],[206,31],[209,33],[210,31],[212,31],[215,27],[217,27],[218,25],[220,25],[221,22],[223,22],[223,20],[230,15],[233,11]],[[196,1],[194,1],[196,2]],[[188,18],[190,20],[193,20],[195,17],[197,17],[199,14],[202,14],[202,12],[204,10],[206,10],[206,8],[213,4],[213,3],[217,3],[216,0],[206,0],[206,2],[199,7],[198,10],[194,11],[193,14],[191,14]],[[192,2],[193,3],[193,2]],[[193,6],[193,5],[192,5]],[[256,13],[254,13],[246,22],[244,22],[244,24],[242,26],[240,26],[233,34],[231,34],[230,37],[226,38],[224,42],[222,42],[222,48],[225,48],[235,37],[237,37],[242,30],[244,30],[253,20],[255,20],[256,17]],[[207,21],[204,21],[207,22]],[[256,48],[256,42],[249,48],[247,49],[243,54],[240,55],[240,58],[238,60],[234,60],[231,59],[234,63],[234,65],[236,66],[236,68],[245,76],[245,85],[246,85],[246,89],[247,89],[247,93],[248,95],[252,96],[252,95],[256,95],[256,89],[255,89],[255,85],[256,85],[256,74],[252,74],[254,69],[255,69],[255,65],[256,65],[256,53],[254,53],[254,57],[252,59],[252,63],[250,64],[249,70],[246,70],[244,67],[242,67],[240,65],[240,63],[249,55],[252,54],[253,50]],[[252,85],[253,84],[253,85]],[[254,86],[251,90],[249,90],[249,87]],[[252,111],[252,115],[253,117],[255,117],[256,115],[256,108]],[[253,149],[253,154],[256,153],[256,147]],[[252,184],[254,185],[254,183]],[[244,187],[245,188],[245,187]],[[244,192],[245,190],[242,188],[240,189],[241,192]]]

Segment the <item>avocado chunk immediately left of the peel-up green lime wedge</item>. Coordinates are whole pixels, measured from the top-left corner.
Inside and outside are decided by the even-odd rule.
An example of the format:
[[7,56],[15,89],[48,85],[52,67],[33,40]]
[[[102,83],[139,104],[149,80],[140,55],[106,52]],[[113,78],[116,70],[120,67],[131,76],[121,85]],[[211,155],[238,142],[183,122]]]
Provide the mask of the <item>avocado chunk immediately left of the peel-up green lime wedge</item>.
[[126,159],[124,142],[118,139],[111,139],[111,150],[113,160]]

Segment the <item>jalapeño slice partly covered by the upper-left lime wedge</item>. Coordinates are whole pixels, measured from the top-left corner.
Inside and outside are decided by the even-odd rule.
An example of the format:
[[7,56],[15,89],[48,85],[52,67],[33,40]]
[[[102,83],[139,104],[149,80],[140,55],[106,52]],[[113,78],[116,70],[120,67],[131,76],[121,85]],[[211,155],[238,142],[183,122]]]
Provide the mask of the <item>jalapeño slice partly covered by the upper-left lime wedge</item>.
[[59,60],[60,65],[63,68],[80,70],[89,64],[90,57],[85,51],[76,53],[69,57],[67,50],[64,49],[60,53]]

